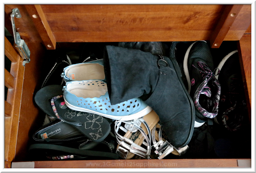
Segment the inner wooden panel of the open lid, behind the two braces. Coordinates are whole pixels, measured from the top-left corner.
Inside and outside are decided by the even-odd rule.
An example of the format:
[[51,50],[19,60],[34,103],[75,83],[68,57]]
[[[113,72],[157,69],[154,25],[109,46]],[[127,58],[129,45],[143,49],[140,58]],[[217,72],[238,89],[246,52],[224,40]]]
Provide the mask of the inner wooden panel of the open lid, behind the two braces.
[[[136,42],[210,40],[226,5],[40,5],[56,42]],[[16,28],[25,42],[42,39],[24,5]],[[240,40],[248,28],[244,5],[224,40]],[[245,27],[245,28],[244,28]]]

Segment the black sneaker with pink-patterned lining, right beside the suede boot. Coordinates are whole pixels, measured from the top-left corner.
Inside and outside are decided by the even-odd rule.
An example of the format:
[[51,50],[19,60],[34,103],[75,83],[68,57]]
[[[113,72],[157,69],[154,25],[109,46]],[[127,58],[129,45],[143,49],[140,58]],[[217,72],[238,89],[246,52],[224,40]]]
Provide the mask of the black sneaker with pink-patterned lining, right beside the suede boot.
[[214,64],[210,48],[205,41],[190,45],[184,56],[184,74],[188,82],[188,93],[196,108],[195,127],[204,122],[212,124],[210,119],[218,114],[220,83],[214,77]]

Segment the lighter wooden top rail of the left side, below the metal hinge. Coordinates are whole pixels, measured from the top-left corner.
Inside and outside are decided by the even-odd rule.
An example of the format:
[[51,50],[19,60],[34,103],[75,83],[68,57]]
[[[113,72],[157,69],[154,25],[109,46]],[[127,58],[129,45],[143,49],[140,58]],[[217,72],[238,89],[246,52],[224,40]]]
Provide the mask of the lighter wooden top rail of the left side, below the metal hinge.
[[24,77],[23,58],[19,56],[16,63],[11,64],[10,74],[14,76],[14,89],[8,89],[6,101],[12,105],[11,117],[4,118],[4,160],[13,161],[15,156],[18,124],[20,117],[20,103]]

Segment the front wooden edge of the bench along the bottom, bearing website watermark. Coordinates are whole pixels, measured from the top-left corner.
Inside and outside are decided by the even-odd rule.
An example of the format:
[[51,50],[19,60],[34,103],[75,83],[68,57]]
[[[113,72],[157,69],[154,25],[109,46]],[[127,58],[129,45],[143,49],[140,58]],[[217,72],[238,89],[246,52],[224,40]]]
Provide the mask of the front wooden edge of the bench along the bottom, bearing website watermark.
[[[251,159],[246,159],[251,160]],[[35,161],[35,168],[238,168],[237,159]]]

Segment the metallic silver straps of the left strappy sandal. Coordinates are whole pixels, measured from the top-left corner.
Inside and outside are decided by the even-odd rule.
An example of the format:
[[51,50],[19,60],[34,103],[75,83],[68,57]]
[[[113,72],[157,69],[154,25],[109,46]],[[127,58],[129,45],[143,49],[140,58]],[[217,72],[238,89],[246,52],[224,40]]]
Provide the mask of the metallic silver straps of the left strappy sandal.
[[[139,155],[141,157],[144,157],[146,159],[150,159],[150,152],[151,152],[150,128],[148,126],[148,123],[146,123],[146,121],[144,119],[138,118],[138,120],[141,121],[145,125],[146,129],[148,130],[149,137],[148,137],[148,135],[146,135],[146,133],[143,131],[143,129],[139,125],[134,123],[134,121],[115,121],[114,131],[116,134],[116,140],[119,144],[119,146],[116,150],[116,153],[123,159],[126,159],[129,152]],[[128,138],[123,137],[122,135],[118,134],[119,129],[121,129],[124,132],[127,132],[127,130],[121,126],[121,123],[133,125],[136,129],[138,129],[141,132],[144,139],[146,140],[146,142],[143,141],[143,144],[147,147],[147,149],[144,149],[140,145],[134,143],[131,139],[128,139]]]

